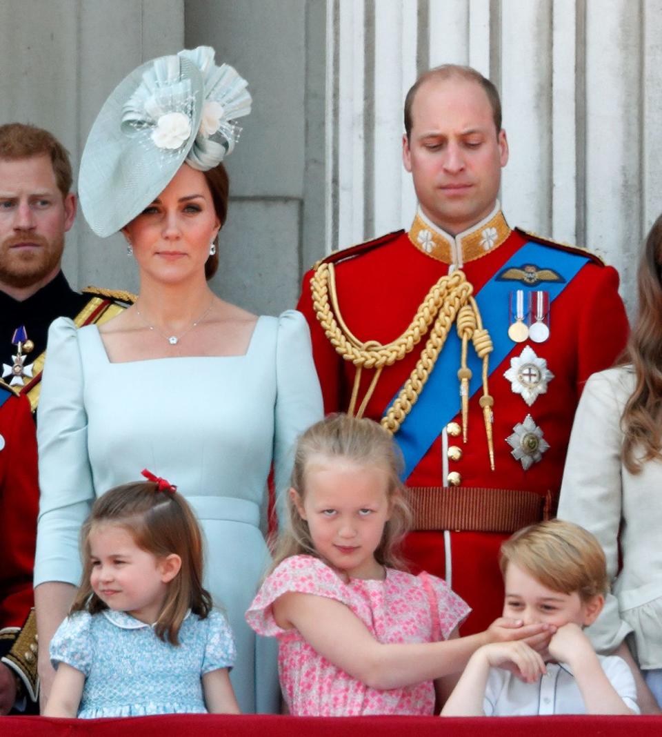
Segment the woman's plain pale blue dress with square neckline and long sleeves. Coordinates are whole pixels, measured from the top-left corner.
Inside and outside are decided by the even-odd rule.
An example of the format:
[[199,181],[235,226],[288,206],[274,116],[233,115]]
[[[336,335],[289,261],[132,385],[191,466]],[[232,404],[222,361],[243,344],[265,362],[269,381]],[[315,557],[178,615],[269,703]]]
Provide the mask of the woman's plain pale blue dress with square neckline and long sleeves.
[[282,519],[296,436],[323,415],[300,312],[258,318],[246,354],[110,363],[96,326],[49,331],[38,412],[35,586],[80,582],[78,536],[94,497],[148,468],[177,485],[207,541],[205,585],[237,645],[244,712],[278,710],[274,643],[244,612],[267,565],[267,478]]

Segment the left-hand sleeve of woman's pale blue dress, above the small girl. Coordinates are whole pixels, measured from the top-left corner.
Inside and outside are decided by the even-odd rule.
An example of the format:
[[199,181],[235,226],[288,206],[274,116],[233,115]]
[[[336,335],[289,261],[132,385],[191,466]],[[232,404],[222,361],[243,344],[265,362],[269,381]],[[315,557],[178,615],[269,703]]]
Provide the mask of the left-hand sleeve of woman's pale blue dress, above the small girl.
[[34,584],[77,585],[81,565],[78,536],[94,485],[88,458],[88,419],[77,328],[58,318],[49,329],[38,408],[39,485]]

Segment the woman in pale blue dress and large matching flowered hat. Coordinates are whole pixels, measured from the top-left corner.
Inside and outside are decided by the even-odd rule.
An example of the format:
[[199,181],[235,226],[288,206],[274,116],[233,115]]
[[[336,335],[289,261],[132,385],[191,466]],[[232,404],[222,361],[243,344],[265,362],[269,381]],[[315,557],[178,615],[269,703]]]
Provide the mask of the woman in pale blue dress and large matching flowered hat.
[[[205,587],[237,643],[232,680],[242,711],[278,710],[271,643],[244,611],[268,559],[267,478],[276,511],[292,443],[322,414],[306,323],[256,317],[217,298],[228,180],[220,161],[250,111],[246,83],[213,49],[162,57],[110,95],[82,156],[85,218],[122,230],[140,274],[133,307],[49,333],[38,417],[41,509],[35,560],[39,670],[80,579],[78,534],[92,500],[149,467],[177,485],[207,540]],[[246,244],[246,247],[250,247]]]

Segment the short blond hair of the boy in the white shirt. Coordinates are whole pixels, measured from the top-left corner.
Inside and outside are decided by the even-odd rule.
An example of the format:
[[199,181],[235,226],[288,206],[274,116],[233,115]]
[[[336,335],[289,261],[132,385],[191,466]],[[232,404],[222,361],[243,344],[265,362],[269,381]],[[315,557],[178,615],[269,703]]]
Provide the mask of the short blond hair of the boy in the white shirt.
[[552,591],[577,592],[582,601],[609,590],[605,553],[596,537],[566,520],[530,525],[501,545],[499,566],[510,563]]

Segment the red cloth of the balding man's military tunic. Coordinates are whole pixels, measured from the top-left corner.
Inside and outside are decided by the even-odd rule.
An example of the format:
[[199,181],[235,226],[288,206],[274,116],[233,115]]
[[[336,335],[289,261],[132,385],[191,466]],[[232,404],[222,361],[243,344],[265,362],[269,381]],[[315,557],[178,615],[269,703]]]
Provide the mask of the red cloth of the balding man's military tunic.
[[[498,218],[501,218],[501,224],[496,223]],[[477,240],[474,237],[473,250],[465,251],[462,270],[473,284],[474,293],[499,273],[518,248],[527,241],[537,240],[521,231],[509,232],[501,214],[487,223],[488,226],[492,224],[503,228],[493,248],[492,244],[488,244],[487,248],[476,252]],[[420,237],[420,247],[415,245],[418,231],[414,226],[410,233],[411,237],[403,231],[391,234],[381,239],[374,248],[370,248],[370,245],[363,248],[359,246],[355,255],[335,265],[339,310],[348,329],[359,340],[378,340],[380,343],[395,340],[409,326],[432,284],[448,273],[448,261],[443,262],[426,253],[424,246],[431,250],[429,243]],[[482,233],[485,234],[485,230]],[[540,242],[547,244],[544,240]],[[554,245],[550,248],[554,248]],[[558,245],[557,248],[566,247]],[[566,250],[581,252],[580,249]],[[588,256],[588,262],[552,303],[549,339],[539,344],[529,340],[526,343],[513,343],[510,354],[499,366],[490,363],[490,394],[494,398],[495,470],[490,469],[487,455],[483,413],[478,403],[482,393],[479,391],[469,402],[467,443],[463,444],[461,437],[449,436],[444,431],[407,479],[408,486],[447,486],[448,477],[444,478],[444,475],[455,471],[461,477],[460,488],[518,489],[542,496],[551,493],[555,501],[583,383],[594,371],[613,363],[627,338],[627,317],[617,291],[619,276],[616,270],[605,267],[588,252],[583,252],[582,256]],[[539,263],[537,266],[542,269],[547,265]],[[351,396],[354,367],[337,354],[314,315],[309,286],[312,275],[313,271],[309,271],[303,279],[298,309],[306,315],[311,329],[325,411],[345,411]],[[522,284],[513,282],[513,290],[519,287]],[[544,290],[546,285],[541,283],[535,288]],[[494,310],[508,310],[508,305],[496,304]],[[493,315],[491,310],[487,312],[484,309],[482,312],[483,324],[488,331],[494,322]],[[395,365],[384,368],[373,397],[368,402],[365,416],[381,419],[415,366],[424,343],[425,339]],[[521,395],[513,393],[510,381],[504,378],[504,372],[510,368],[510,358],[519,356],[527,345],[538,357],[546,359],[547,368],[554,374],[546,394],[540,394],[531,407]],[[457,368],[459,366],[454,367],[447,379],[448,391],[454,393],[458,392],[459,387]],[[365,370],[363,374],[359,402],[372,378],[372,371]],[[424,389],[418,401],[425,401]],[[514,425],[523,422],[529,413],[543,430],[544,439],[550,447],[543,453],[540,462],[524,470],[521,462],[511,455],[513,448],[506,439],[513,433]],[[462,422],[459,415],[454,420],[460,424]],[[587,438],[586,441],[590,442],[591,439]],[[459,447],[462,458],[459,461],[449,460],[448,453],[443,452],[444,444],[447,447]],[[404,552],[412,562],[412,570],[415,573],[421,569],[428,570],[436,576],[446,577],[447,581],[450,578],[448,583],[453,590],[473,608],[468,624],[462,628],[463,634],[485,629],[501,613],[503,586],[498,552],[505,537],[507,535],[498,533],[451,532],[446,536],[446,544],[449,539],[451,548],[451,561],[448,562],[442,531],[412,532],[406,539]]]

